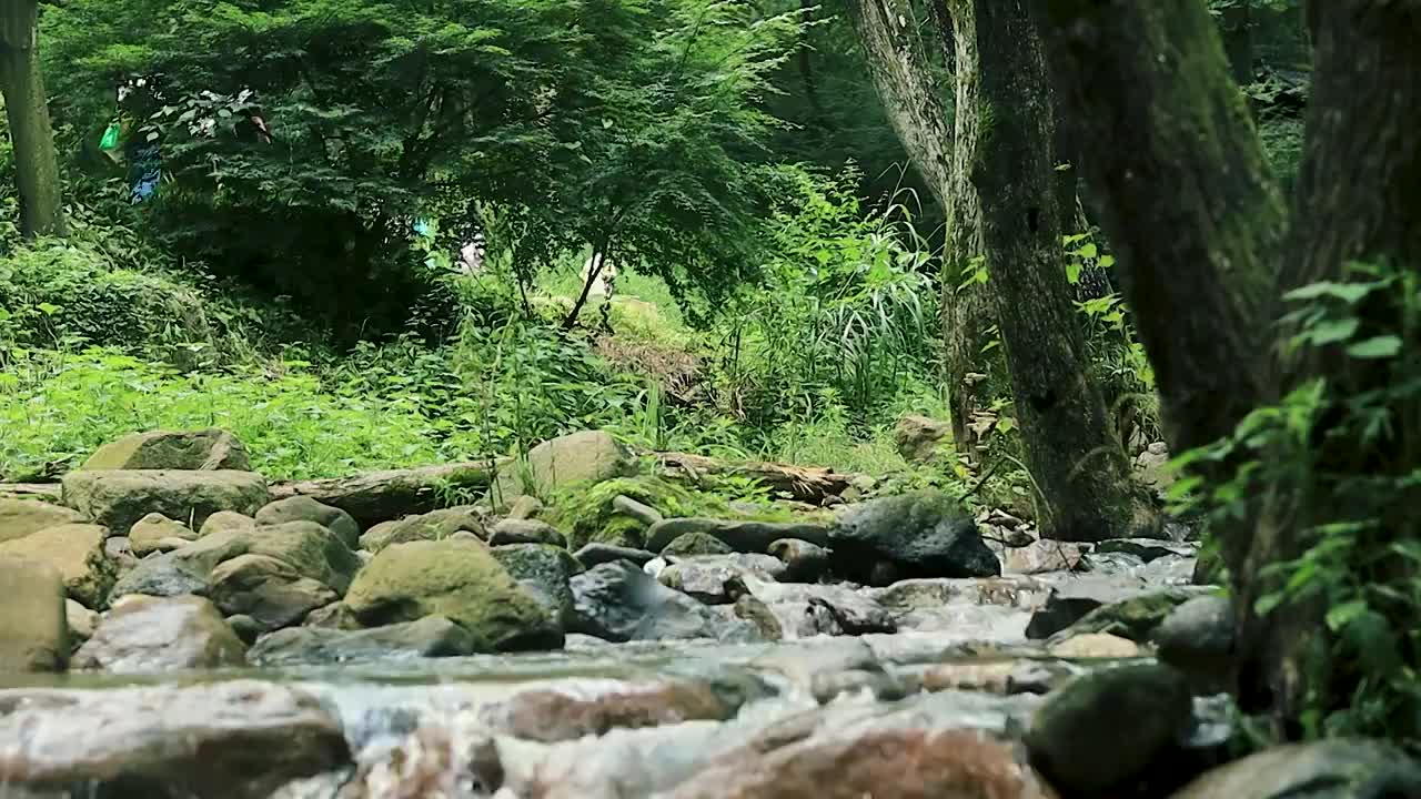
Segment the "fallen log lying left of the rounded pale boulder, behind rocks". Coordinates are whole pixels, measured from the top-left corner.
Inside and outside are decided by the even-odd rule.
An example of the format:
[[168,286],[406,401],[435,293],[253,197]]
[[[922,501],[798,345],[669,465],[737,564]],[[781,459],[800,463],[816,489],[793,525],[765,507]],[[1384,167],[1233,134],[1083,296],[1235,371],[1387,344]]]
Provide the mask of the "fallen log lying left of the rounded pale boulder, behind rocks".
[[271,483],[271,499],[310,496],[311,499],[345,510],[369,527],[415,513],[428,513],[449,505],[459,505],[456,492],[485,489],[497,469],[510,459],[446,463],[416,469],[385,469],[350,478],[320,481],[280,481]]

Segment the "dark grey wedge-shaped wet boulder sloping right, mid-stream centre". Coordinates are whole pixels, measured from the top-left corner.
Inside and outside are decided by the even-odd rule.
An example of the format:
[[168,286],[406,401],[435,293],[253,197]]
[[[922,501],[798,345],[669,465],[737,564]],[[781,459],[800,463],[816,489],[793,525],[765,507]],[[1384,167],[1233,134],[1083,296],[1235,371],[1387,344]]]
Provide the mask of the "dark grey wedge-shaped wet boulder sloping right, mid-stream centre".
[[749,623],[662,586],[627,560],[588,569],[573,577],[571,587],[577,606],[574,631],[608,641],[757,637]]

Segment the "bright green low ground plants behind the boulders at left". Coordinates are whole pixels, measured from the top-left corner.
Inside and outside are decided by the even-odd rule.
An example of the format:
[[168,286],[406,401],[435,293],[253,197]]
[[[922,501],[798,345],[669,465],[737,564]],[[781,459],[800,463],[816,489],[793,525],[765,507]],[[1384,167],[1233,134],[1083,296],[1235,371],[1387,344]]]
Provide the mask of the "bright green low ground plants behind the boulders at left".
[[416,411],[321,390],[304,364],[279,372],[179,374],[115,350],[11,350],[0,371],[0,475],[53,476],[148,429],[222,427],[269,478],[338,476],[442,458]]

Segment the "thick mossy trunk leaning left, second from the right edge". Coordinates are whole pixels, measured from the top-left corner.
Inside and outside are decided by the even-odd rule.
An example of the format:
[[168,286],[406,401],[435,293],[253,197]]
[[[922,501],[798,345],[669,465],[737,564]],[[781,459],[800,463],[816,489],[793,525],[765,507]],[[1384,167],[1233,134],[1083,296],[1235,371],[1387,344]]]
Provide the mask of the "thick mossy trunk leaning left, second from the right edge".
[[1269,394],[1285,210],[1202,1],[1033,0],[1174,452]]

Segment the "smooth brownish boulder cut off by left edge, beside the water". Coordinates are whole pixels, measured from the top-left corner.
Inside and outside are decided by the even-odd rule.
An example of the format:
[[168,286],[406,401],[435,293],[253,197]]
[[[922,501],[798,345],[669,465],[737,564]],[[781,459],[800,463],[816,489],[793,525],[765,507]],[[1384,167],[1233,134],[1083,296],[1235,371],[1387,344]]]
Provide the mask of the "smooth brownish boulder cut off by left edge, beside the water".
[[0,557],[0,674],[61,671],[70,658],[60,570]]

